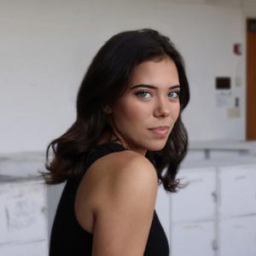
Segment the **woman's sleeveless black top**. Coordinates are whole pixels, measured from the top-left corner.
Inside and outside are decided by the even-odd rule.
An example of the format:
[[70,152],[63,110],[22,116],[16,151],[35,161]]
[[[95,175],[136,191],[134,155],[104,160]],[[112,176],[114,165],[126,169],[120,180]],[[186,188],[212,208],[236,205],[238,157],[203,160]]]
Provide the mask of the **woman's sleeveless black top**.
[[[86,158],[86,168],[103,155],[122,151],[119,143],[109,142],[96,145]],[[90,256],[93,234],[84,230],[74,213],[74,200],[81,178],[68,179],[63,189],[51,230],[49,256]],[[148,234],[144,256],[169,256],[169,245],[157,213]]]

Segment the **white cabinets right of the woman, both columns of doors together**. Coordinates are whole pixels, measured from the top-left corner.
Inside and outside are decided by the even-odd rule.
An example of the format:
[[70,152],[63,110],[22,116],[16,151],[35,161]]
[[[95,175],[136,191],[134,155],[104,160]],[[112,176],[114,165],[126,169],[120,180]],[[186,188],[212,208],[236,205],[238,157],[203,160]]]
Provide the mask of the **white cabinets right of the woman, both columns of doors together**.
[[187,161],[177,177],[189,184],[170,196],[172,256],[255,256],[256,159]]

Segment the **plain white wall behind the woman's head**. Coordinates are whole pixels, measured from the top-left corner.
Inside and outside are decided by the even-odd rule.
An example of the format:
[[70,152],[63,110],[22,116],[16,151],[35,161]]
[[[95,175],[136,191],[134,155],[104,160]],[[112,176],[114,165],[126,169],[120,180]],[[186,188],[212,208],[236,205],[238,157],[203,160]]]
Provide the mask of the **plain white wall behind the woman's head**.
[[[191,102],[183,120],[190,140],[244,139],[245,52],[237,56],[232,48],[245,46],[245,7],[236,0],[224,7],[212,5],[216,0],[183,2],[1,0],[0,153],[44,150],[66,131],[96,50],[116,32],[143,27],[168,35],[184,56]],[[216,76],[231,77],[239,118],[216,107]]]

